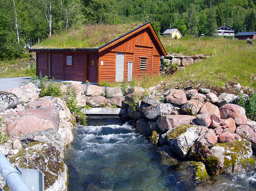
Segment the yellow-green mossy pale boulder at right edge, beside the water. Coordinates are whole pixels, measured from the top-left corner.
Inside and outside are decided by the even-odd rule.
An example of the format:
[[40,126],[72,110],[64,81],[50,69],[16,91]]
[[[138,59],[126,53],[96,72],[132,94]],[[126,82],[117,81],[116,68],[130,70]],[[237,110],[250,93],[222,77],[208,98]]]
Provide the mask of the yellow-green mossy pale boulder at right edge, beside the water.
[[245,139],[235,139],[233,143],[217,143],[211,152],[228,171],[240,172],[241,167],[248,168],[254,164],[251,143]]

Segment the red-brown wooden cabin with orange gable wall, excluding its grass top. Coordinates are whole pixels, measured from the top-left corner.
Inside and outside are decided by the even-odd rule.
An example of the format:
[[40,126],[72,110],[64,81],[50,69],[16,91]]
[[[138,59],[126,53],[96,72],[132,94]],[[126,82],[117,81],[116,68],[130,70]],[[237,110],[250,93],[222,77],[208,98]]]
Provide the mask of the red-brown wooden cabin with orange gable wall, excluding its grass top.
[[98,48],[30,48],[37,54],[37,75],[81,82],[128,82],[159,74],[167,55],[150,22]]

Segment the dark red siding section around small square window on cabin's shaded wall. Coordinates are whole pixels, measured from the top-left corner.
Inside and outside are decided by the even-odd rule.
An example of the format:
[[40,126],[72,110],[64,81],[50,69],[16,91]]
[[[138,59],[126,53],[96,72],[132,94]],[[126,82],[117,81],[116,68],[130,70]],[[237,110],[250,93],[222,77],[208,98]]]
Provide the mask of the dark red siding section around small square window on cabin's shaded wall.
[[[73,65],[66,65],[66,57],[73,56]],[[65,54],[65,80],[85,81],[85,53]]]

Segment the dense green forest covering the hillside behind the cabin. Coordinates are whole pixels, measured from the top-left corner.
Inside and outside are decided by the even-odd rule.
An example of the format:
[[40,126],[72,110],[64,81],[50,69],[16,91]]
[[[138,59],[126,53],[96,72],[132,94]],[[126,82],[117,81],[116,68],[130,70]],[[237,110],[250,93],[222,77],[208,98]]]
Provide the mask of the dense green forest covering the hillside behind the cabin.
[[150,21],[158,35],[170,24],[193,36],[213,36],[223,23],[235,33],[256,31],[256,0],[0,0],[0,12],[0,60],[88,24]]

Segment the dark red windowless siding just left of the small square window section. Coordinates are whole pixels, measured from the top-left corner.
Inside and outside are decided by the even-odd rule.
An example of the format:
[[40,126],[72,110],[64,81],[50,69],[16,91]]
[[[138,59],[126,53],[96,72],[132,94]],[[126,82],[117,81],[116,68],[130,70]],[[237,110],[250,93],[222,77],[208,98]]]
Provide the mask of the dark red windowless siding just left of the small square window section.
[[52,53],[52,78],[63,79],[63,53]]

